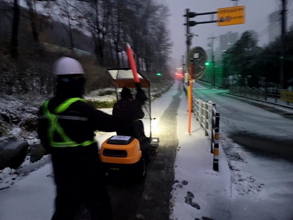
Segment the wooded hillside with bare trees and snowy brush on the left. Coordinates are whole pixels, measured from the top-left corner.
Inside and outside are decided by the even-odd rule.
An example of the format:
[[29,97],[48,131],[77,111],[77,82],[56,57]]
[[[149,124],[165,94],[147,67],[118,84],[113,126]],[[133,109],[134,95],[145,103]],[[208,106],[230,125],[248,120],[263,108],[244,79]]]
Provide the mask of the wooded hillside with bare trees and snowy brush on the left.
[[[0,0],[0,137],[36,136],[38,107],[54,95],[53,65],[63,56],[81,63],[86,78],[85,96],[112,96],[89,99],[96,108],[111,108],[115,102],[113,82],[106,69],[128,67],[125,42],[131,45],[137,69],[147,70],[139,72],[151,82],[152,98],[172,85],[167,67],[171,49],[165,19],[168,9],[164,5],[134,0],[113,5],[105,5],[105,1],[29,0],[28,7],[22,8],[18,3]],[[103,18],[108,23],[99,23],[102,18],[94,14],[92,4],[97,4],[99,13],[108,12]],[[149,10],[150,17],[145,17],[145,10]],[[121,14],[123,11],[129,13]],[[96,17],[96,24],[87,20],[89,15]],[[164,19],[154,23],[158,16]],[[91,28],[97,29],[90,32]],[[157,76],[157,72],[162,75]]]

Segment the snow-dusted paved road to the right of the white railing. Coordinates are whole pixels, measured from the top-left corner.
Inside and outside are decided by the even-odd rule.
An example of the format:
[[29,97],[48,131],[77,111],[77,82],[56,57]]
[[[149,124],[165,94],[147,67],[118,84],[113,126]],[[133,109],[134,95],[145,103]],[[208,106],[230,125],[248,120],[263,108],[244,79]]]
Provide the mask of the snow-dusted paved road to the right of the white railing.
[[[225,146],[230,138],[238,144],[225,146],[224,151],[229,155],[231,149],[233,153],[229,156],[234,158],[236,149],[239,159],[243,161],[240,173],[245,172],[253,180],[263,184],[262,191],[258,194],[261,202],[234,195],[231,212],[242,213],[237,219],[243,220],[292,219],[293,111],[232,96],[228,94],[228,90],[205,89],[199,84],[194,85],[193,95],[216,103],[220,112],[221,143]],[[234,172],[231,168],[231,173],[234,173],[237,180],[237,170]],[[243,207],[248,207],[249,211],[241,210]],[[275,211],[271,213],[272,210]],[[257,213],[259,218],[255,217]]]

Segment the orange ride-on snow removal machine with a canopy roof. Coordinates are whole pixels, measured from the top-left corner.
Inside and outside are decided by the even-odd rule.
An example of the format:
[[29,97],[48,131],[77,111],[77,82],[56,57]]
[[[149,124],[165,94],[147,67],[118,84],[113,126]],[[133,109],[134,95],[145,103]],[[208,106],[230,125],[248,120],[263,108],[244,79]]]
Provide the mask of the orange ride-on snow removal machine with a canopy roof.
[[[119,91],[123,87],[128,89],[135,89],[135,81],[132,70],[130,68],[107,69],[107,72],[113,78],[116,87],[116,97],[119,100]],[[146,136],[148,138],[141,139],[139,137],[130,136],[112,136],[105,140],[100,149],[100,158],[105,168],[106,175],[112,174],[130,174],[139,180],[145,177],[146,163],[151,161],[153,155],[159,146],[159,138],[152,137],[152,120],[151,117],[151,87],[150,81],[146,79],[141,73],[137,72],[140,85],[148,96],[148,100],[144,104],[143,124],[149,124],[149,128],[145,126]],[[147,91],[147,92],[146,92]],[[145,122],[146,121],[146,122]],[[148,131],[146,131],[148,130]]]

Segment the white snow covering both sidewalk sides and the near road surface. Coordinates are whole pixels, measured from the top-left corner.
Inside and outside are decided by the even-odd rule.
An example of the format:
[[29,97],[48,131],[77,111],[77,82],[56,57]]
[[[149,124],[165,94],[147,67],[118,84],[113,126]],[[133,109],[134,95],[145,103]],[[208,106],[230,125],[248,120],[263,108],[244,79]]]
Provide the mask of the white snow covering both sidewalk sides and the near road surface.
[[[152,105],[152,114],[157,118],[152,124],[154,129],[170,104],[174,90],[178,88],[177,83]],[[266,167],[268,161],[243,151],[241,146],[225,136],[225,127],[221,127],[219,172],[214,171],[210,140],[194,117],[191,119],[191,135],[187,133],[184,93],[180,99],[177,116],[179,146],[174,166],[170,219],[291,220],[293,195],[288,189],[293,186],[292,164],[279,159],[269,161],[276,170],[286,169],[288,175],[284,177],[276,172],[273,178],[268,177],[269,171],[263,171],[269,169]],[[111,109],[103,111],[111,113]],[[147,132],[148,126],[145,129]],[[106,136],[111,136],[111,133],[100,134],[97,139],[105,140]],[[48,159],[50,156],[42,160]],[[260,163],[265,167],[259,166]],[[29,158],[22,166],[28,165]],[[280,178],[285,180],[286,186],[277,184]],[[55,197],[50,164],[23,177],[16,170],[5,168],[0,171],[0,189],[0,220],[50,219]]]

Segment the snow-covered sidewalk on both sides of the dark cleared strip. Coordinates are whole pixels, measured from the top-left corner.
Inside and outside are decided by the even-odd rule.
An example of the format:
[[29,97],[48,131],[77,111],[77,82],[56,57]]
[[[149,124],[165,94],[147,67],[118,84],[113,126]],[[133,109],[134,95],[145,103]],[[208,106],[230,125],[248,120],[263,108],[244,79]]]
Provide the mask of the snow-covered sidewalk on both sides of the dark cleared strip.
[[[154,130],[165,109],[169,106],[167,97],[177,91],[179,82],[152,106],[157,118],[152,122]],[[182,93],[178,110],[177,136],[179,146],[175,163],[175,180],[171,201],[171,218],[194,219],[194,216],[215,217],[219,209],[226,209],[230,197],[230,171],[225,154],[220,148],[219,172],[213,170],[211,141],[204,129],[192,117],[191,135],[187,132],[187,100]],[[104,109],[111,113],[111,109]],[[146,134],[148,125],[145,125]],[[155,131],[154,131],[155,132]],[[113,135],[97,136],[99,143]],[[10,188],[0,191],[0,220],[50,219],[54,211],[55,185],[52,166],[46,164],[16,181]]]

